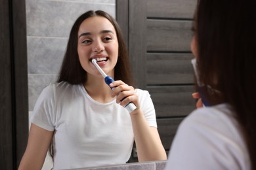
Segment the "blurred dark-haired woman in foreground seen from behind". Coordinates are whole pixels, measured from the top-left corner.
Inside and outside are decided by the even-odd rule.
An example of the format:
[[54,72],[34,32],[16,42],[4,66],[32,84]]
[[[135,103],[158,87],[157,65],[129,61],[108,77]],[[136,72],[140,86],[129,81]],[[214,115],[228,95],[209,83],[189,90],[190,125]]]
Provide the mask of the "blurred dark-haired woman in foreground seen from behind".
[[198,1],[191,50],[210,106],[181,123],[165,169],[256,169],[255,7]]

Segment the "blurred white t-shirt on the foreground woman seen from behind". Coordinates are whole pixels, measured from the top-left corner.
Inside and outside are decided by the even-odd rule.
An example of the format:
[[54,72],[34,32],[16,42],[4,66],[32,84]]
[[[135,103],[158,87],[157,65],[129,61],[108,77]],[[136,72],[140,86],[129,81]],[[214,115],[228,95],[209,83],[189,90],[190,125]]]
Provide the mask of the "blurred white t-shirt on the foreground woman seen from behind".
[[249,153],[228,105],[205,107],[182,121],[165,170],[250,169]]

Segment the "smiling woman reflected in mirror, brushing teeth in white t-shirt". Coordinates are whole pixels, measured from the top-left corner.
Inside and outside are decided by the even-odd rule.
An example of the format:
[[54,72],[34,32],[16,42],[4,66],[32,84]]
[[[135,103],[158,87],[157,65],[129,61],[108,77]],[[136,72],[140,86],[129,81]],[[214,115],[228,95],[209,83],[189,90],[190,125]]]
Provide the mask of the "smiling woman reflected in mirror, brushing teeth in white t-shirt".
[[[92,59],[116,80],[113,91]],[[130,102],[137,109],[129,113]],[[119,26],[100,10],[75,21],[58,82],[43,90],[31,122],[19,169],[41,169],[50,143],[53,169],[125,163],[134,140],[139,161],[166,159],[150,95],[133,88]]]

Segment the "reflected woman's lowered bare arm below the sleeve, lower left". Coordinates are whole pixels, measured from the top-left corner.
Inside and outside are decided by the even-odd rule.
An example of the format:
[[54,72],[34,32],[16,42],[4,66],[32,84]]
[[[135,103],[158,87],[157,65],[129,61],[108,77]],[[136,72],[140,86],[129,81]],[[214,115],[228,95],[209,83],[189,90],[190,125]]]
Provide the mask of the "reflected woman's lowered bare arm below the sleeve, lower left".
[[18,169],[42,169],[53,132],[31,124],[28,145]]

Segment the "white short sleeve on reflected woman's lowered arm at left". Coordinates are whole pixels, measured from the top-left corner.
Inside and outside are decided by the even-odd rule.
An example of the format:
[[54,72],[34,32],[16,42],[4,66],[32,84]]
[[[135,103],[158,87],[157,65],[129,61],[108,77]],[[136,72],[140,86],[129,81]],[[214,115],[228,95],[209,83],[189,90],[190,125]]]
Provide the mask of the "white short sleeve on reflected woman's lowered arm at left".
[[48,131],[54,131],[56,110],[54,84],[47,86],[39,95],[30,122]]

